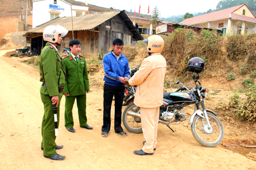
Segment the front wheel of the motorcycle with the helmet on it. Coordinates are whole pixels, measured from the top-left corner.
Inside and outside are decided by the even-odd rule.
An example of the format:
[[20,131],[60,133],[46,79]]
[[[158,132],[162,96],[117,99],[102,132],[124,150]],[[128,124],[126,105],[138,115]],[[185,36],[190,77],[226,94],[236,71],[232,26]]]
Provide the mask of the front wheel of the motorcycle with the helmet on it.
[[224,130],[220,120],[214,114],[207,112],[207,115],[212,128],[208,128],[205,118],[196,115],[193,119],[191,131],[196,141],[201,145],[214,147],[222,141]]

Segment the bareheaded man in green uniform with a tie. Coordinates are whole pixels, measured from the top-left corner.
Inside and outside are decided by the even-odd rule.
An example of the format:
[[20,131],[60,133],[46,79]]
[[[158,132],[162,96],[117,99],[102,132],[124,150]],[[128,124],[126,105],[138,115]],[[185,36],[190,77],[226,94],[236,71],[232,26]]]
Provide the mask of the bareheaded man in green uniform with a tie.
[[67,73],[67,85],[64,89],[65,95],[65,127],[68,131],[75,133],[73,128],[72,109],[76,99],[79,124],[81,128],[93,129],[87,124],[86,117],[86,94],[89,93],[89,80],[86,69],[86,60],[80,56],[81,42],[71,40],[69,42],[71,53],[63,59],[63,67]]

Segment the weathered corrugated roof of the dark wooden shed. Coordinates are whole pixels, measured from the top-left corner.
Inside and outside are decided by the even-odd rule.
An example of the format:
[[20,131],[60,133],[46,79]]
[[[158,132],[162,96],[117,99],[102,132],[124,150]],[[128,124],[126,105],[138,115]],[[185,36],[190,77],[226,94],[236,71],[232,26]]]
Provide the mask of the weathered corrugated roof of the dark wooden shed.
[[[115,15],[120,14],[125,21],[125,23],[130,27],[133,31],[135,40],[143,40],[141,34],[137,31],[135,25],[129,17],[126,15],[125,11],[110,11],[110,12],[101,12],[96,14],[88,14],[82,16],[73,16],[73,30],[74,31],[82,31],[89,30],[98,27],[98,25],[106,22],[107,20],[113,18]],[[28,33],[43,33],[44,28],[49,25],[61,25],[64,28],[68,29],[68,31],[72,31],[72,18],[71,17],[59,17],[53,20],[50,20],[47,23],[38,25],[38,27],[31,29],[24,33],[23,36],[28,35]]]

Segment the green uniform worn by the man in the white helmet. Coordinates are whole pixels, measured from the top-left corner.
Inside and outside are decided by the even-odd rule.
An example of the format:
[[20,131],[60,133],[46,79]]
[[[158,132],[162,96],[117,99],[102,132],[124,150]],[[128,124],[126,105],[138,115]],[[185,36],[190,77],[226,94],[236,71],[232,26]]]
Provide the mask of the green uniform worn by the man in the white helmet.
[[[42,57],[43,55],[43,57]],[[42,67],[43,66],[43,67]],[[44,46],[39,58],[40,81],[43,82],[40,88],[41,99],[44,104],[44,116],[42,121],[42,144],[44,148],[44,156],[52,156],[56,154],[55,147],[55,122],[52,96],[59,96],[59,105],[57,107],[57,120],[59,126],[60,100],[63,92],[59,93],[60,87],[65,87],[65,73],[61,64],[61,58],[54,46],[47,43]],[[58,84],[59,82],[59,84]]]

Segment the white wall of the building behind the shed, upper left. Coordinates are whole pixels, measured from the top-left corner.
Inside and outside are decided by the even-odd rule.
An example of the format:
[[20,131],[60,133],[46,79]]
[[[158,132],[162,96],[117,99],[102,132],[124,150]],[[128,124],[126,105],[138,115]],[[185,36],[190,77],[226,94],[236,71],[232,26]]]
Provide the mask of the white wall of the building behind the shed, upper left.
[[[53,4],[53,0],[42,0],[42,1],[32,1],[33,10],[32,10],[32,27],[35,28],[38,25],[48,22],[51,20],[51,13],[59,14],[60,17],[71,16],[71,7],[68,3],[63,1],[57,1],[56,5],[59,5],[64,8],[64,10],[52,10],[49,9],[49,5]],[[73,9],[75,8],[75,10]],[[76,9],[86,11],[89,10],[88,7],[84,6],[72,6],[73,16],[76,16]],[[53,12],[54,11],[54,12]]]

